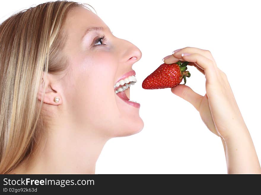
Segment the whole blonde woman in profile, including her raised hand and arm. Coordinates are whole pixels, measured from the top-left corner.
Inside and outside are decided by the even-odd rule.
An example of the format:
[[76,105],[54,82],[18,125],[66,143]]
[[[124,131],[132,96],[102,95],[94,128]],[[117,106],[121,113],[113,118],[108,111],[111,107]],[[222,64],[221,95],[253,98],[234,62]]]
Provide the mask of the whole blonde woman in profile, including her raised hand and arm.
[[[81,4],[47,2],[11,16],[0,26],[0,45],[2,174],[95,173],[107,140],[143,129],[139,104],[120,98],[130,96],[132,65],[141,51]],[[185,85],[171,91],[192,103],[221,137],[228,173],[261,173],[226,75],[211,53],[186,47],[163,60],[190,61],[206,75],[205,96]],[[117,82],[127,77],[125,91],[116,94]]]

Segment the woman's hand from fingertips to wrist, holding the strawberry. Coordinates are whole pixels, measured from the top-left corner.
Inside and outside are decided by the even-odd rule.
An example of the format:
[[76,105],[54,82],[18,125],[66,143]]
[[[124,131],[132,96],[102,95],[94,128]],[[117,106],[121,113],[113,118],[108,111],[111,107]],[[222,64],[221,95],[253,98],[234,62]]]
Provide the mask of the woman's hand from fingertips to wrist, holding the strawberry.
[[[184,53],[184,56],[182,56]],[[189,54],[189,55],[188,55]],[[210,51],[185,47],[164,60],[166,64],[188,61],[206,76],[206,94],[201,96],[187,85],[178,85],[171,91],[190,102],[200,113],[203,122],[214,134],[223,138],[235,134],[235,126],[244,126],[244,120],[235,101],[227,76],[222,72]]]

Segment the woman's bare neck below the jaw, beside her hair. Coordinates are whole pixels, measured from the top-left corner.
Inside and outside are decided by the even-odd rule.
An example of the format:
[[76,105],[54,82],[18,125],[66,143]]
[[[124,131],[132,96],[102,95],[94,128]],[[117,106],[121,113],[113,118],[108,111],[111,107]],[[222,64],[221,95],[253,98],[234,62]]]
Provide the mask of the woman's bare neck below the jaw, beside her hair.
[[33,154],[12,173],[94,174],[106,137],[93,129],[49,129]]

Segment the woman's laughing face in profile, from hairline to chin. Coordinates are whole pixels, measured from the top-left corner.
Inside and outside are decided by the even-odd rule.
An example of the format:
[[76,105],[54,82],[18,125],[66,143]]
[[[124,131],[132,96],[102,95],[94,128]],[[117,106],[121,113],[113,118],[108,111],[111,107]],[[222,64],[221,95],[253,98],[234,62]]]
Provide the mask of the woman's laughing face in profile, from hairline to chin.
[[[91,27],[103,30],[86,34]],[[109,138],[141,131],[144,123],[139,116],[139,104],[119,97],[126,94],[130,98],[131,87],[117,94],[118,87],[114,89],[125,73],[130,73],[126,78],[135,75],[130,71],[141,58],[139,48],[115,37],[96,14],[82,7],[69,12],[66,31],[69,36],[64,52],[69,58],[69,67],[61,83],[63,106],[69,120]],[[100,41],[103,35],[106,40]]]

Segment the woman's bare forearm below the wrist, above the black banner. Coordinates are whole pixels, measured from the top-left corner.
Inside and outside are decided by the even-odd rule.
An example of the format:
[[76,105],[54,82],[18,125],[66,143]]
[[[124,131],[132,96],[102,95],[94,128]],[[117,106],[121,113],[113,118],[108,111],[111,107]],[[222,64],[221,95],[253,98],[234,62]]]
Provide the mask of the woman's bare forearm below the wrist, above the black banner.
[[236,134],[221,138],[224,146],[228,174],[261,174],[257,153],[246,126]]

